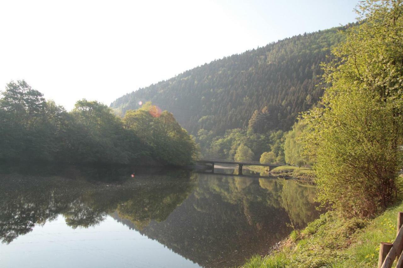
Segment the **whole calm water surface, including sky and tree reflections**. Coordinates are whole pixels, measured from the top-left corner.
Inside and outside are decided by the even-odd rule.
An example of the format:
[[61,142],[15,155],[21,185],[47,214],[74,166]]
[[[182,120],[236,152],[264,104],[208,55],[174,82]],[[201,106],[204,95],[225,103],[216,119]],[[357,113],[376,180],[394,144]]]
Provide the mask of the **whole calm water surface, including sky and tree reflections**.
[[[0,174],[0,267],[225,267],[318,217],[295,181],[128,168]],[[219,171],[216,169],[216,171]]]

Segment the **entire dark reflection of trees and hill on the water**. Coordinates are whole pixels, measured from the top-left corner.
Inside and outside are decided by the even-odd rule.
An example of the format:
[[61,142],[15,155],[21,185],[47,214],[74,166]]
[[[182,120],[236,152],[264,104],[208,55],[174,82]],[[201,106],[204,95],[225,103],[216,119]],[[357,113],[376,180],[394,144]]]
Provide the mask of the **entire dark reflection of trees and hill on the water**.
[[[0,175],[2,243],[58,215],[72,228],[97,225],[110,215],[202,266],[234,266],[264,253],[291,232],[285,198],[299,228],[318,216],[315,188],[295,181],[189,171],[102,182],[94,180],[99,175],[88,175],[102,173],[96,170],[21,173]],[[116,169],[113,174],[125,178],[131,170]]]

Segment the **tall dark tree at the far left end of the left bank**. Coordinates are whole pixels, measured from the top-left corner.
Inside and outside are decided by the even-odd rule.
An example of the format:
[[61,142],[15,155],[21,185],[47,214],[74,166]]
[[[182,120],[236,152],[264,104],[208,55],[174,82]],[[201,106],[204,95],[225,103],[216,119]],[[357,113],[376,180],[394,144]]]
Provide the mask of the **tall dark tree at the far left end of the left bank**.
[[0,158],[49,159],[53,134],[46,126],[46,101],[24,80],[11,81],[0,99]]

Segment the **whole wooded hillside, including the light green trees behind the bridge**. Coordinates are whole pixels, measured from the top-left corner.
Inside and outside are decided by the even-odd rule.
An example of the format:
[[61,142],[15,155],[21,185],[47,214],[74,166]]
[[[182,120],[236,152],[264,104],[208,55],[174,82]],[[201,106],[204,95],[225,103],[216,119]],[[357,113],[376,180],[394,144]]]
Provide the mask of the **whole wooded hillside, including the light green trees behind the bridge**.
[[[215,60],[124,95],[110,107],[123,116],[152,101],[171,111],[205,157],[285,163],[285,133],[322,97],[321,63],[331,60],[332,47],[344,39],[340,31],[354,25]],[[287,161],[297,162],[307,163],[300,157]]]

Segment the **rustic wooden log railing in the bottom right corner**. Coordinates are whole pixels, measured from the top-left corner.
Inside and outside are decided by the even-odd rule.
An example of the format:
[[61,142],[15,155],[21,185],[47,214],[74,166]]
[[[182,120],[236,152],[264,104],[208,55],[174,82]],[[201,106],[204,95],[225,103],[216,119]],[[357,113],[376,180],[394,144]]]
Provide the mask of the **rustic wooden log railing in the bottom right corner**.
[[393,243],[381,242],[379,247],[378,268],[391,268],[397,259],[397,268],[403,268],[403,212],[397,213],[397,235]]

